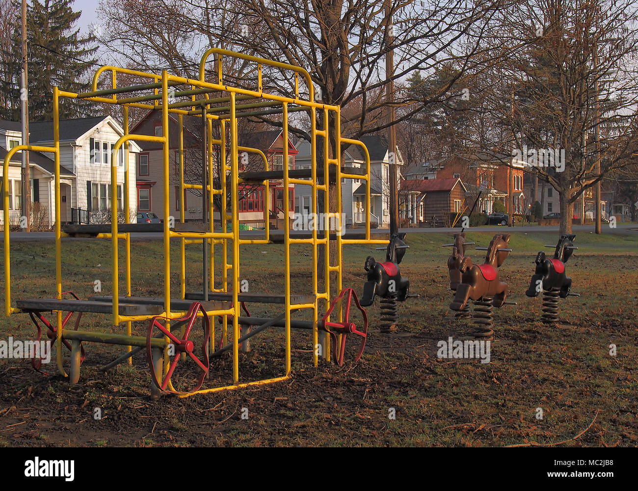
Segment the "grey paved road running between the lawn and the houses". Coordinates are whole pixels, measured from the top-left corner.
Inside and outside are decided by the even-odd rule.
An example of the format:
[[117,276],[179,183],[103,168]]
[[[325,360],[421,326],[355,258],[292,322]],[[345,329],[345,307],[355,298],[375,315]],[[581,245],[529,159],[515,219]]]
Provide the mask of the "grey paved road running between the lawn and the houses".
[[[452,232],[457,232],[461,229],[444,229],[444,228],[427,228],[427,229],[401,229],[401,232],[406,232],[408,234],[431,234],[431,233],[439,233],[439,234],[451,234]],[[516,233],[527,233],[527,232],[558,232],[559,227],[471,227],[472,232],[500,232],[501,230],[505,232],[507,230],[510,234]],[[574,225],[574,233],[587,233],[593,232],[593,225]],[[346,230],[345,236],[352,236],[355,234],[361,234],[363,229],[348,229]],[[603,234],[632,234],[637,236],[638,238],[638,223],[632,223],[630,225],[617,225],[616,228],[612,229],[609,225],[604,224],[602,229]],[[296,234],[305,234],[307,232],[295,232],[292,231],[291,236],[295,236]],[[373,235],[385,235],[388,233],[387,229],[373,229],[371,230]],[[262,230],[252,230],[252,231],[244,231],[241,232],[242,238],[260,238],[263,236]],[[54,232],[31,232],[29,234],[25,234],[22,232],[11,232],[11,242],[31,242],[31,241],[54,241],[56,238],[56,234]],[[283,230],[271,230],[271,238],[278,239],[283,238]],[[140,234],[133,233],[131,234],[131,240],[162,240],[163,234],[159,233],[151,233],[151,234]],[[84,241],[84,240],[93,240],[87,238],[64,238],[64,241]],[[105,240],[105,239],[103,239]],[[4,241],[4,235],[0,234],[0,243]]]

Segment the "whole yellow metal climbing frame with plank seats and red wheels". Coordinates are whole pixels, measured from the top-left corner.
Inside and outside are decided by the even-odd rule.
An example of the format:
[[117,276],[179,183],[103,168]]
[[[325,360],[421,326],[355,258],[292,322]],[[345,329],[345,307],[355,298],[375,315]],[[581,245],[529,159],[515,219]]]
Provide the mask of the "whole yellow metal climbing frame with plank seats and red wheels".
[[[214,56],[216,63],[217,80],[216,82],[207,82],[205,80],[205,64],[209,57]],[[249,90],[240,87],[229,86],[226,84],[225,74],[222,66],[223,60],[228,57],[241,59],[243,63],[256,64],[256,90]],[[262,69],[277,69],[280,73],[285,73],[291,87],[294,87],[294,97],[285,97],[277,94],[269,94],[263,91],[262,87]],[[110,85],[107,89],[98,90],[98,82],[103,74],[110,73]],[[128,79],[134,78],[144,83],[137,85],[118,87],[118,75],[124,75]],[[122,78],[122,77],[121,77]],[[303,98],[300,93],[300,82],[305,84],[308,98]],[[145,95],[137,95],[137,93],[147,93]],[[131,96],[131,93],[135,96]],[[112,189],[117,186],[117,153],[121,147],[124,148],[124,209],[130,209],[129,196],[129,179],[130,171],[128,169],[128,142],[131,140],[157,142],[163,147],[163,212],[165,219],[161,229],[163,230],[163,271],[164,271],[164,298],[141,298],[135,297],[131,289],[131,232],[140,232],[137,224],[130,223],[130,213],[125,213],[125,223],[117,223],[117,195],[112,193],[111,197],[111,223],[110,225],[80,225],[73,229],[73,232],[87,234],[95,238],[110,238],[112,241],[112,294],[110,296],[94,297],[89,299],[64,299],[62,283],[62,259],[61,248],[62,238],[70,236],[70,229],[61,225],[60,221],[60,144],[59,144],[59,102],[62,98],[70,98],[75,100],[88,100],[96,103],[107,103],[122,106],[122,116],[124,121],[124,135],[117,141],[112,149],[112,167],[111,167],[111,183]],[[186,99],[185,99],[186,98]],[[339,107],[327,105],[322,102],[315,101],[313,84],[309,73],[290,64],[270,61],[254,56],[230,52],[223,49],[209,49],[205,52],[200,61],[199,79],[193,80],[184,77],[169,75],[166,70],[159,73],[140,72],[138,70],[130,70],[128,68],[118,68],[115,66],[103,66],[95,73],[93,77],[92,90],[88,93],[76,94],[67,91],[61,91],[58,87],[53,89],[54,104],[54,144],[53,146],[16,146],[8,151],[4,160],[4,284],[5,298],[4,310],[7,316],[14,313],[29,313],[31,319],[38,327],[38,319],[44,322],[48,329],[48,336],[56,341],[56,359],[59,373],[68,376],[70,381],[77,383],[79,379],[79,369],[84,357],[82,342],[100,342],[106,344],[118,344],[127,347],[127,352],[121,357],[128,359],[131,363],[131,354],[133,347],[137,349],[147,348],[149,365],[152,374],[151,393],[154,397],[158,397],[163,392],[177,393],[182,397],[192,395],[194,393],[206,393],[212,391],[220,391],[223,389],[235,389],[244,386],[267,384],[270,382],[281,381],[290,377],[290,331],[293,327],[302,327],[311,330],[311,343],[313,345],[313,364],[318,365],[318,351],[315,347],[321,343],[323,350],[321,356],[329,359],[330,336],[336,342],[336,350],[339,347],[338,336],[343,338],[345,344],[345,335],[348,333],[358,333],[354,324],[348,322],[348,312],[350,310],[350,299],[353,295],[352,290],[342,291],[342,248],[343,245],[350,244],[369,244],[379,245],[387,244],[387,240],[375,240],[370,238],[370,217],[367,214],[365,238],[362,239],[346,239],[340,233],[334,232],[330,236],[330,230],[324,230],[322,236],[318,234],[317,227],[311,231],[311,236],[304,238],[291,237],[290,221],[283,220],[284,234],[283,240],[285,245],[285,294],[275,296],[258,296],[242,294],[240,291],[240,265],[241,254],[240,246],[242,245],[263,245],[271,242],[271,232],[269,230],[269,220],[265,220],[265,231],[263,238],[248,239],[241,238],[239,234],[239,186],[242,183],[252,183],[263,185],[265,192],[263,193],[265,213],[268,212],[268,186],[271,180],[283,180],[283,188],[288,190],[288,185],[304,185],[311,186],[311,206],[317,211],[317,194],[324,193],[324,215],[338,221],[339,229],[345,227],[341,223],[341,213],[329,211],[329,183],[330,181],[337,183],[336,203],[337,209],[341,211],[341,183],[342,179],[362,179],[366,183],[366,209],[370,209],[370,160],[364,144],[357,140],[351,140],[341,137],[341,129],[339,126],[340,114]],[[161,136],[155,135],[136,135],[129,133],[129,115],[130,107],[158,110],[162,115]],[[283,165],[282,170],[269,170],[268,162],[260,149],[239,146],[237,143],[237,119],[240,117],[259,116],[263,114],[280,114],[283,128],[283,162],[288,162],[288,115],[295,111],[306,111],[309,113],[311,124],[311,169],[303,172],[289,171],[287,165]],[[317,112],[323,112],[323,129],[316,128]],[[332,120],[334,128],[329,128],[330,113],[333,113]],[[179,199],[181,201],[179,222],[171,223],[167,220],[170,213],[169,210],[169,114],[173,114],[179,121]],[[184,117],[195,117],[200,119],[202,125],[202,184],[188,184],[184,182]],[[219,125],[220,139],[213,139],[213,125]],[[336,140],[336,148],[340,149],[342,144],[353,144],[360,146],[365,156],[366,167],[359,171],[353,169],[345,172],[341,166],[341,154],[336,152],[334,158],[329,158],[329,137],[330,132],[334,132]],[[229,135],[226,140],[227,133]],[[323,162],[317,165],[317,145],[323,145]],[[213,179],[213,146],[219,147],[221,153],[221,166],[223,170],[220,173],[219,188],[214,187]],[[11,273],[10,273],[10,234],[8,227],[8,164],[11,157],[18,151],[39,151],[54,155],[55,162],[55,229],[56,229],[56,298],[52,299],[18,299],[15,306],[11,306]],[[256,153],[262,158],[264,172],[241,173],[239,172],[238,158],[242,151]],[[226,153],[229,152],[229,155]],[[230,165],[228,165],[230,162]],[[290,174],[293,176],[290,176]],[[297,176],[297,177],[295,177]],[[303,176],[303,177],[299,177]],[[230,178],[230,179],[228,179]],[[320,184],[320,178],[322,183]],[[227,182],[228,181],[228,182]],[[184,223],[184,190],[197,189],[202,191],[204,207],[202,208],[202,218],[205,229],[193,227],[190,223]],[[204,189],[205,188],[205,189]],[[219,195],[221,198],[221,209],[218,209],[221,218],[221,230],[214,230],[214,220],[212,217],[216,209],[214,208],[213,197]],[[230,210],[226,208],[226,203],[230,200]],[[210,219],[209,219],[210,218]],[[228,224],[230,223],[230,227]],[[326,227],[327,228],[327,227]],[[120,269],[120,258],[118,252],[118,241],[122,239],[125,244],[124,257],[124,295],[121,295],[121,286],[118,282],[118,273]],[[170,240],[179,239],[180,246],[180,298],[171,298],[170,289]],[[338,259],[337,264],[330,264],[330,254],[328,251],[330,240],[336,241]],[[230,242],[229,242],[230,241]],[[201,244],[203,255],[202,275],[202,292],[186,292],[186,245]],[[291,246],[297,244],[308,244],[312,246],[312,296],[295,296],[291,292],[290,283],[290,252]],[[232,245],[232,262],[228,261],[227,245]],[[215,289],[216,279],[214,276],[214,250],[215,246],[221,246],[222,257],[222,278],[218,283],[219,287]],[[325,253],[325,261],[322,264],[323,282],[325,288],[319,291],[318,277],[318,257],[320,247],[323,247]],[[341,292],[330,303],[330,273],[336,273],[336,292]],[[230,276],[229,276],[230,275]],[[334,275],[333,275],[334,276]],[[63,293],[64,292],[64,293]],[[281,303],[285,306],[285,315],[281,315],[278,319],[256,319],[255,321],[247,321],[241,318],[240,306],[245,301],[259,301],[267,303]],[[323,310],[323,319],[319,317],[320,301],[325,301],[325,310]],[[345,305],[345,302],[348,305]],[[355,302],[358,305],[358,301]],[[342,305],[343,303],[343,305]],[[337,307],[335,313],[332,313],[334,307]],[[313,321],[303,324],[302,321],[292,319],[292,313],[299,310],[312,310]],[[56,322],[48,323],[43,317],[43,312],[55,312]],[[112,326],[121,326],[124,324],[126,331],[123,334],[114,333],[96,333],[93,331],[78,330],[78,321],[75,329],[65,328],[66,321],[71,317],[72,313],[78,313],[81,317],[82,313],[109,313],[112,314]],[[64,314],[66,313],[66,314]],[[338,316],[338,322],[330,322],[329,315]],[[64,314],[64,315],[63,315]],[[345,314],[345,321],[343,319]],[[365,314],[364,314],[365,315]],[[214,322],[209,322],[214,316],[221,316],[223,319],[222,333],[223,344],[226,344],[227,324],[232,319],[232,344],[226,346],[228,351],[232,352],[232,384],[215,387],[201,388],[204,375],[209,370],[209,350],[213,351],[214,356]],[[204,351],[198,358],[193,354],[193,342],[187,340],[188,333],[193,327],[195,318],[202,320],[204,332],[208,329],[208,335],[205,335]],[[261,328],[269,326],[281,326],[285,328],[285,367],[283,375],[279,377],[271,377],[268,379],[248,381],[240,383],[239,377],[239,346],[241,343],[239,326],[241,320],[248,324],[260,325]],[[131,335],[131,322],[145,321],[151,322],[147,336]],[[162,325],[162,321],[164,324]],[[297,322],[297,324],[295,324]],[[171,324],[173,331],[171,332]],[[179,330],[178,330],[179,328]],[[159,329],[159,336],[156,330]],[[259,328],[258,328],[259,329]],[[175,333],[175,334],[174,334]],[[181,338],[178,337],[182,336]],[[212,333],[212,335],[211,335]],[[365,332],[363,333],[365,342]],[[208,345],[208,339],[210,339]],[[343,361],[343,344],[341,345],[341,360]],[[71,350],[71,368],[70,374],[67,375],[63,368],[63,345]],[[171,348],[177,347],[175,349]],[[361,347],[362,350],[362,347]],[[174,372],[177,360],[183,361],[187,357],[192,358],[195,364],[200,366],[202,376],[199,385],[190,391],[177,391],[172,385],[171,375]],[[359,353],[360,356],[360,353]],[[358,358],[358,357],[357,357]],[[202,361],[204,360],[204,361]],[[117,360],[116,360],[117,361]],[[34,365],[35,366],[35,365]]]

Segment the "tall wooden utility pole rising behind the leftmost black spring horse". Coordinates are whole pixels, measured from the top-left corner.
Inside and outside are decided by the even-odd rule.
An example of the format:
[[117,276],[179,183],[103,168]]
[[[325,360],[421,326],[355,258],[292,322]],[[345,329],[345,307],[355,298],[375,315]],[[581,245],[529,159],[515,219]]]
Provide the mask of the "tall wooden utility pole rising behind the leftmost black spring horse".
[[[385,0],[385,19],[388,45],[394,40],[392,26],[392,0]],[[388,118],[388,185],[390,187],[390,235],[399,233],[399,193],[397,190],[396,130],[394,128],[394,50],[385,54],[385,76],[389,80],[385,86]]]

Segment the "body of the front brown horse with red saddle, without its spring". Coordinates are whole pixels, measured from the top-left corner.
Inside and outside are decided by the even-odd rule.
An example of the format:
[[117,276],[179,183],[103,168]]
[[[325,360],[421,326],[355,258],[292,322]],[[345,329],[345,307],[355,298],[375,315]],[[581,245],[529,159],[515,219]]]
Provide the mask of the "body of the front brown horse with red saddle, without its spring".
[[454,301],[450,303],[452,310],[463,310],[470,299],[476,301],[483,297],[493,297],[493,305],[500,307],[507,296],[507,283],[498,279],[498,267],[503,264],[507,254],[509,234],[497,234],[487,247],[484,264],[472,264],[469,257],[461,260],[460,271],[462,282],[456,288]]

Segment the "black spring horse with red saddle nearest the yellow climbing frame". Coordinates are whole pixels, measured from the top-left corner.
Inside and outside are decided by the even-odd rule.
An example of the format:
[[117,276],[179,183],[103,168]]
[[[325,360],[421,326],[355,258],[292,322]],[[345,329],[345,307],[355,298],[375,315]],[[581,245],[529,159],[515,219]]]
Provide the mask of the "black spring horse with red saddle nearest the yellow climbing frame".
[[[385,262],[376,262],[368,256],[364,268],[367,271],[367,282],[363,285],[362,306],[370,306],[375,302],[375,296],[381,298],[381,332],[396,331],[397,301],[403,302],[408,296],[410,280],[401,278],[399,262],[410,246],[404,242],[405,234],[392,234],[386,248]],[[383,247],[376,250],[383,250]],[[415,295],[416,296],[416,295]]]

